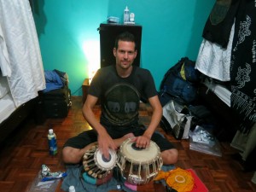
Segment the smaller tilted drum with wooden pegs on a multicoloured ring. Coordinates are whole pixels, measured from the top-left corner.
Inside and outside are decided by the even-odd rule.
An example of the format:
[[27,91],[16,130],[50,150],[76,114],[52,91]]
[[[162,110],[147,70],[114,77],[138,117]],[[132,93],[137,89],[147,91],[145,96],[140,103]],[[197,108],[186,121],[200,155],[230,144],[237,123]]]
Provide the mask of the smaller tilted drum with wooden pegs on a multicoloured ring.
[[84,181],[91,184],[102,184],[108,182],[113,176],[113,167],[116,166],[117,154],[109,149],[109,160],[107,160],[97,145],[90,147],[83,156]]

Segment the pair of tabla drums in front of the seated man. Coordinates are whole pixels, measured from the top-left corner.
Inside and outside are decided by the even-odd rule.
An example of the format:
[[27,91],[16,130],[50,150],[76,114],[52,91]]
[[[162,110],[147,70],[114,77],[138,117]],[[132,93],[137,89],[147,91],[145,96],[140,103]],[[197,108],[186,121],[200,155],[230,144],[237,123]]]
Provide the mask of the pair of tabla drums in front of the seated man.
[[86,182],[97,185],[108,182],[117,165],[127,182],[146,184],[157,176],[163,165],[160,148],[153,141],[150,141],[148,148],[137,148],[136,143],[127,139],[121,144],[118,155],[110,149],[109,156],[109,160],[106,160],[97,145],[84,153],[83,177]]

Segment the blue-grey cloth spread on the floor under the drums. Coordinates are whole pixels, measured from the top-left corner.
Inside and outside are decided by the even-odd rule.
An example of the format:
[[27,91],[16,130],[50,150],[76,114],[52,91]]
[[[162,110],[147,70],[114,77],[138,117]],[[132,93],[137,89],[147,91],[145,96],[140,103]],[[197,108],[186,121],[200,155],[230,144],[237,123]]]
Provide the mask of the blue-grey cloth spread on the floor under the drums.
[[[76,192],[106,192],[114,189],[122,189],[126,192],[136,192],[135,190],[129,189],[125,186],[125,182],[121,182],[122,179],[116,179],[116,177],[112,177],[107,183],[103,183],[101,185],[95,185],[86,183],[84,178],[81,177],[81,172],[84,169],[84,166],[76,164],[76,165],[68,165],[67,168],[67,177],[64,178],[61,189],[64,191],[68,191],[69,186],[73,185],[76,189]],[[162,166],[162,170],[167,172],[171,169],[174,169],[174,166]],[[113,170],[115,172],[115,170]],[[121,177],[121,176],[119,176]]]

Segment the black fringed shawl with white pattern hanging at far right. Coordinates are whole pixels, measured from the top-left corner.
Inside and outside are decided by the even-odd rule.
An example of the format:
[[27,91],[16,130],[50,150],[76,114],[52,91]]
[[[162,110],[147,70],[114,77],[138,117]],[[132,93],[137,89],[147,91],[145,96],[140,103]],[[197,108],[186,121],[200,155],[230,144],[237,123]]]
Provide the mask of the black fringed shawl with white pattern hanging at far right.
[[231,108],[239,114],[242,133],[256,122],[256,3],[241,0],[230,65]]

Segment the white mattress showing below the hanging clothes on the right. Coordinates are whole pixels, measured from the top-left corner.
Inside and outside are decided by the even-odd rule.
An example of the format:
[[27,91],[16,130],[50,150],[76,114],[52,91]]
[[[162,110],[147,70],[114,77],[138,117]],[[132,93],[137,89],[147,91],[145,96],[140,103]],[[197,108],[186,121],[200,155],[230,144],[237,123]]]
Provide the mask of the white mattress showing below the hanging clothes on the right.
[[218,96],[224,103],[226,103],[230,107],[230,96],[231,91],[227,89],[224,84],[217,84],[216,82],[206,79],[204,84],[208,87],[209,90]]

